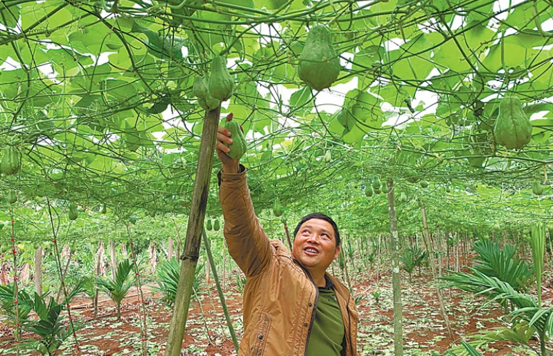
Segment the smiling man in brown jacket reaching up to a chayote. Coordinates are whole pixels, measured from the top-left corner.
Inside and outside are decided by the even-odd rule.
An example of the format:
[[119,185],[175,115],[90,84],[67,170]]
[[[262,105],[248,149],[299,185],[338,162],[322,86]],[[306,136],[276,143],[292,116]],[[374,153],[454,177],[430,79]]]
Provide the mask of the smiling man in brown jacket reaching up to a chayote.
[[229,253],[247,282],[238,356],[356,356],[358,314],[349,290],[326,273],[340,253],[340,234],[324,214],[294,232],[292,253],[269,241],[254,214],[245,168],[229,158],[231,133],[218,128],[219,199]]

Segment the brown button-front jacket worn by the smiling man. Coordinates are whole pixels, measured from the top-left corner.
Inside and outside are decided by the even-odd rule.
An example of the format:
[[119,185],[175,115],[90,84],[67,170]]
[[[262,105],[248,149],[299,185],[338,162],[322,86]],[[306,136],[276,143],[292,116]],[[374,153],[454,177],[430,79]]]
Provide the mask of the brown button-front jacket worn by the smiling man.
[[[245,170],[220,173],[219,182],[229,253],[247,278],[238,356],[304,356],[319,289],[281,241],[267,238],[254,214]],[[327,276],[342,310],[346,356],[356,356],[355,301],[342,283]]]

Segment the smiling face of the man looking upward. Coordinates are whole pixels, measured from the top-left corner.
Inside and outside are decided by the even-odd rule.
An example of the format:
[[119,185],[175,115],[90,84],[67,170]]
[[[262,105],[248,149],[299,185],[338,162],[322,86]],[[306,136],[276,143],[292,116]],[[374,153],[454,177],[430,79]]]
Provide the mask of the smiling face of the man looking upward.
[[310,219],[301,224],[292,255],[311,272],[324,273],[340,253],[331,223],[322,219]]

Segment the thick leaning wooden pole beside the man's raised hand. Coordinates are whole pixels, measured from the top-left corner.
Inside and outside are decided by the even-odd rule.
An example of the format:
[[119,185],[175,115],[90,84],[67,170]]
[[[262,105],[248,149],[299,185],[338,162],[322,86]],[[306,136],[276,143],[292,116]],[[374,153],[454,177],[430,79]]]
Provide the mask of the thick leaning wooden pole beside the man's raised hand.
[[213,152],[217,141],[217,128],[219,124],[220,106],[215,110],[206,111],[202,140],[200,142],[200,156],[198,158],[198,169],[192,193],[192,204],[188,228],[186,229],[186,241],[184,251],[180,256],[182,260],[179,285],[173,317],[169,326],[167,347],[165,356],[179,356],[182,348],[182,339],[188,319],[188,307],[192,295],[196,264],[200,253],[202,240],[202,229],[204,228],[205,210],[207,197],[209,196],[209,183],[211,180],[211,169],[213,168]]

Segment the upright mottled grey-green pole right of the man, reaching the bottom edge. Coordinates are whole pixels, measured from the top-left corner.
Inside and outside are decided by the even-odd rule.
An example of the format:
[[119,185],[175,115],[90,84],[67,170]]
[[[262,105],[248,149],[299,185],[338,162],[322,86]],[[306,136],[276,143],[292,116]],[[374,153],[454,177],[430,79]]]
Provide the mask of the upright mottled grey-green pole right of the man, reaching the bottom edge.
[[399,237],[396,203],[394,201],[394,180],[387,178],[389,230],[392,237],[390,244],[392,264],[392,289],[394,291],[394,356],[403,356],[403,305],[401,303],[401,274],[399,271]]

